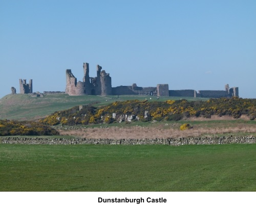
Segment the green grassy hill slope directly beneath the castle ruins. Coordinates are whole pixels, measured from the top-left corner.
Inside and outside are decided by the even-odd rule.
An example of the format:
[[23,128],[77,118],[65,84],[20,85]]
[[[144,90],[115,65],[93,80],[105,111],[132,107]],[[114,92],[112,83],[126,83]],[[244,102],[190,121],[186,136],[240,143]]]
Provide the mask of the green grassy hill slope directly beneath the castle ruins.
[[[152,99],[150,99],[152,98]],[[157,100],[152,96],[69,96],[67,94],[45,95],[31,97],[29,94],[7,95],[0,99],[0,119],[9,120],[38,120],[59,110],[65,110],[78,105],[94,104],[106,105],[114,101],[145,100],[166,101],[179,100],[207,100],[193,97],[160,97]]]

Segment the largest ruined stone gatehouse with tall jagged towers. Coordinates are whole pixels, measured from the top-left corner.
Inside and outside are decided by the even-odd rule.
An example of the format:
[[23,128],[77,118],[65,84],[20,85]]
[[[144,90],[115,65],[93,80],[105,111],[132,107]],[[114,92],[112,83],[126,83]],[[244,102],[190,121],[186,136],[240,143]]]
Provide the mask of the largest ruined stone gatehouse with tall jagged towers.
[[66,70],[66,94],[79,95],[112,95],[111,77],[97,65],[97,77],[89,77],[89,63],[83,63],[83,81],[78,81],[71,70]]

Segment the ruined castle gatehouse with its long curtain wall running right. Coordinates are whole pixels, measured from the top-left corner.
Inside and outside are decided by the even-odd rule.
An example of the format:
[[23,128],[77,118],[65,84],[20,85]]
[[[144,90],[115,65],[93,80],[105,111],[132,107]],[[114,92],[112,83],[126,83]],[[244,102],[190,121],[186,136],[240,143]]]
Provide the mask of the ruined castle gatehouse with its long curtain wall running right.
[[112,87],[109,73],[101,71],[102,67],[97,65],[97,77],[89,77],[89,63],[83,63],[83,81],[78,81],[71,70],[66,70],[66,94],[70,96],[81,95],[151,95],[170,97],[202,97],[202,98],[222,98],[239,96],[238,87],[229,88],[225,85],[225,90],[169,90],[168,84],[157,84],[156,87],[139,87],[136,83],[131,86]]

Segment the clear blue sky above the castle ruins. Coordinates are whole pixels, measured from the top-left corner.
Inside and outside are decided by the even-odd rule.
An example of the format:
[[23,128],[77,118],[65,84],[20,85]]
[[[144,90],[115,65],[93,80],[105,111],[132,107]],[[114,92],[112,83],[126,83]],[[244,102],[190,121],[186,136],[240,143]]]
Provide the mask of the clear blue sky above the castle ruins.
[[256,98],[256,1],[0,0],[0,98],[18,81],[65,91],[83,62],[112,86],[224,90]]

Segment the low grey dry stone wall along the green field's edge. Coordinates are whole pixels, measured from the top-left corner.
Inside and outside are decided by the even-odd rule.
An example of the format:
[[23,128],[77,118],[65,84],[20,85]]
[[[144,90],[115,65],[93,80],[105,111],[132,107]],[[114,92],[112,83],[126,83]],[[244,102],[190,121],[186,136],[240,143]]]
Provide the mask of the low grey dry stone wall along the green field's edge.
[[220,136],[220,137],[188,137],[168,139],[88,139],[88,138],[32,138],[32,137],[1,137],[2,144],[27,145],[213,145],[213,144],[253,144],[254,136]]

